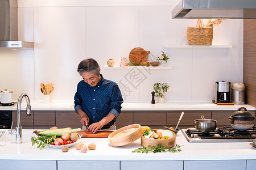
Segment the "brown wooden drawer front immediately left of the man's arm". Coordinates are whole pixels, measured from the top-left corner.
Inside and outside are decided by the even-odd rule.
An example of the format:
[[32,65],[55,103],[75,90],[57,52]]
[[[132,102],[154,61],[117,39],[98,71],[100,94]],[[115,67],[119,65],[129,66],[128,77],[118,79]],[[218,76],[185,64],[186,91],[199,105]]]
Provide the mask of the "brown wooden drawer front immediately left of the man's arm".
[[58,128],[82,128],[81,117],[75,111],[56,111],[56,126]]

